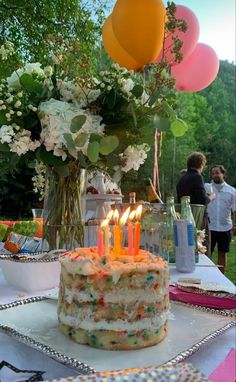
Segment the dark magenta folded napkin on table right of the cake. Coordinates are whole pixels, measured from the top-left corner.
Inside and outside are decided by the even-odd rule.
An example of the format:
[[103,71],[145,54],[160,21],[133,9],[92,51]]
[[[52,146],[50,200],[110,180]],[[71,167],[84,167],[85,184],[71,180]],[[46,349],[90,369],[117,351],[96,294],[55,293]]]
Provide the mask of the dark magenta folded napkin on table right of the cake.
[[190,304],[205,306],[216,309],[236,309],[236,300],[227,297],[213,297],[204,294],[183,291],[177,287],[170,286],[170,299]]

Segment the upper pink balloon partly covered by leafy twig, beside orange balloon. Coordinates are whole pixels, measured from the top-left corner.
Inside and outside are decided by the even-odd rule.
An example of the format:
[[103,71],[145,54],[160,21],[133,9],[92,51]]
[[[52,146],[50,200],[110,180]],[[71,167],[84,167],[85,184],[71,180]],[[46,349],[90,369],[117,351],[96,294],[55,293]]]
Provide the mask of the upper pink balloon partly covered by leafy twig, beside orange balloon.
[[[191,9],[185,7],[184,5],[177,5],[176,7],[176,19],[183,19],[188,24],[188,29],[186,32],[181,32],[179,30],[174,33],[170,33],[165,39],[165,55],[164,57],[170,63],[170,65],[176,65],[177,62],[174,61],[174,55],[171,53],[169,47],[172,46],[172,37],[176,36],[180,38],[183,42],[183,46],[181,48],[181,53],[183,54],[183,59],[187,58],[194,50],[200,33],[199,22],[195,14],[191,11]],[[167,49],[167,51],[166,51]],[[163,50],[159,54],[158,58],[155,62],[159,62],[162,58]]]

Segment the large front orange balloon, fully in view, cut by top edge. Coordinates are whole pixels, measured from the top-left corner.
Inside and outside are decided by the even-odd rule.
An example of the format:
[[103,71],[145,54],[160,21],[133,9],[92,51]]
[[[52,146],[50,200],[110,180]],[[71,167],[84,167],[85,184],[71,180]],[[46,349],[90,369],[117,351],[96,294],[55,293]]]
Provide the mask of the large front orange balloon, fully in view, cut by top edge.
[[117,0],[112,12],[116,39],[142,65],[159,54],[166,10],[161,0]]

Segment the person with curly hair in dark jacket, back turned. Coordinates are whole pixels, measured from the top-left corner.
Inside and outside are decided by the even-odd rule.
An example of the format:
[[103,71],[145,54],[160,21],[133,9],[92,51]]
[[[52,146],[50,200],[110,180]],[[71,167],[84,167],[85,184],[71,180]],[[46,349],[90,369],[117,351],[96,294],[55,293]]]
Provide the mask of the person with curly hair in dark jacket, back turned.
[[200,152],[193,152],[187,158],[187,171],[181,176],[177,185],[177,200],[180,203],[182,196],[190,196],[191,204],[207,205],[215,199],[215,194],[207,195],[202,178],[202,171],[206,165],[206,157]]

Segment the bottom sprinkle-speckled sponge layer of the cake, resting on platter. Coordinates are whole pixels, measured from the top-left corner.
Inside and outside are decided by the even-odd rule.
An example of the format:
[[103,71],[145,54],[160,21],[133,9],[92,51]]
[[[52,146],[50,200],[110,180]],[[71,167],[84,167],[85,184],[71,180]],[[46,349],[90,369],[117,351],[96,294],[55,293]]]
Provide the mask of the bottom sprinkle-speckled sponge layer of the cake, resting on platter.
[[167,322],[156,330],[84,330],[59,324],[60,330],[74,341],[108,350],[132,350],[156,345],[167,335]]

